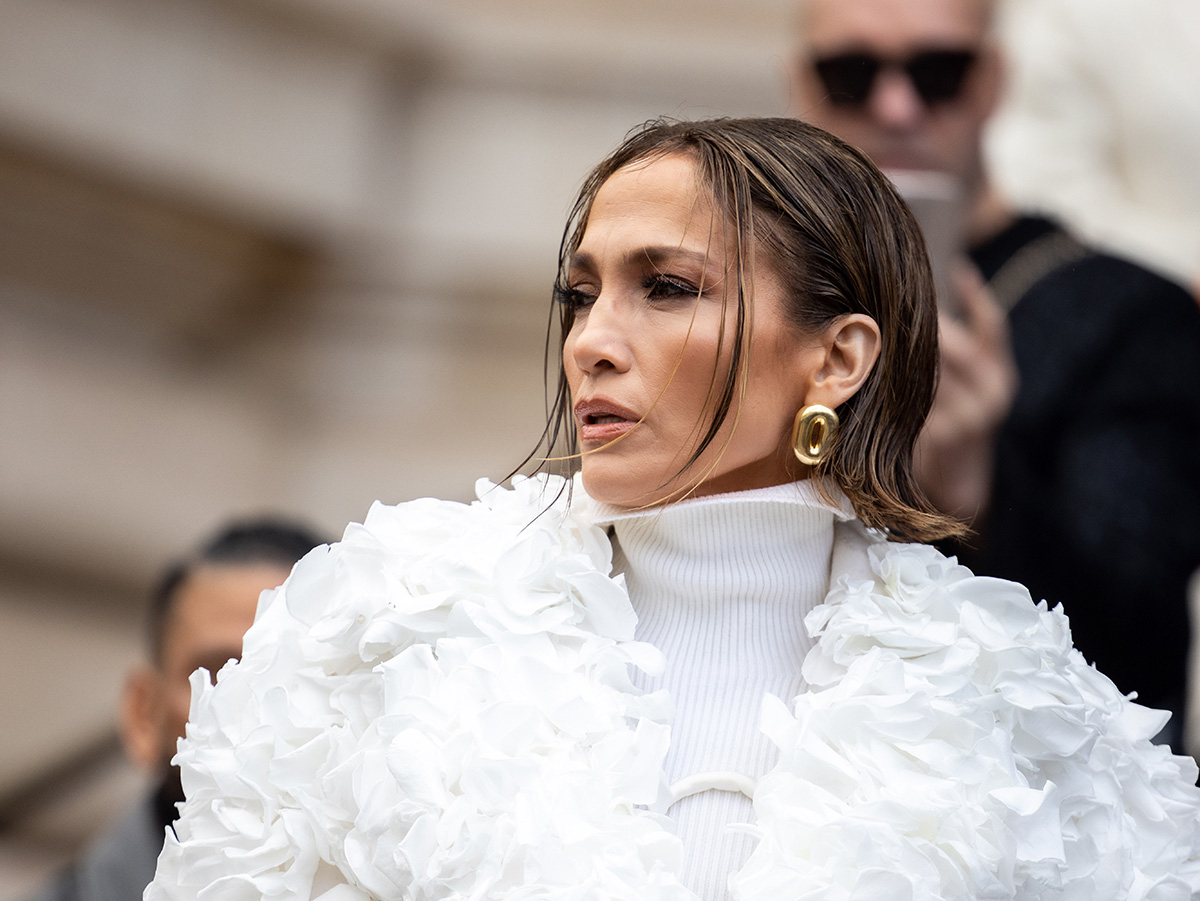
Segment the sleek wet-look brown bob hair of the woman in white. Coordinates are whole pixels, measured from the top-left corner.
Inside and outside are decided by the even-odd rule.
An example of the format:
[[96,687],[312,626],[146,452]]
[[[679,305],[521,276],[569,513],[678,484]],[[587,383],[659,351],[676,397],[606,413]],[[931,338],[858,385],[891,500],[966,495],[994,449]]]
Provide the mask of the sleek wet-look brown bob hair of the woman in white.
[[[912,473],[913,445],[937,382],[937,307],[920,229],[892,184],[860,151],[796,119],[655,120],[630,133],[583,182],[563,232],[558,289],[587,229],[592,203],[607,179],[631,163],[683,155],[696,163],[736,235],[737,310],[732,354],[710,389],[713,416],[686,470],[730,415],[739,374],[751,353],[748,270],[774,268],[790,290],[786,314],[802,334],[823,331],[839,317],[865,313],[880,326],[880,358],[863,388],[839,409],[841,425],[810,477],[850,499],[859,518],[899,541],[931,541],[965,528],[937,512]],[[557,294],[558,292],[556,292]],[[540,446],[552,451],[578,439],[562,346],[574,323],[557,305],[557,388]],[[714,361],[715,366],[715,361]],[[547,373],[548,374],[548,373]],[[547,385],[548,386],[548,385]]]

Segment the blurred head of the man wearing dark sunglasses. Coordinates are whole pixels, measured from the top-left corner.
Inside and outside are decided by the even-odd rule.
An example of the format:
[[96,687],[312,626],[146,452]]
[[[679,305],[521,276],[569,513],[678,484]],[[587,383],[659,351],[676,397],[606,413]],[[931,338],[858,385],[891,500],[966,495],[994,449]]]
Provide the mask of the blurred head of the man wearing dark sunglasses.
[[800,0],[793,114],[882,169],[983,187],[983,130],[1001,90],[992,0]]

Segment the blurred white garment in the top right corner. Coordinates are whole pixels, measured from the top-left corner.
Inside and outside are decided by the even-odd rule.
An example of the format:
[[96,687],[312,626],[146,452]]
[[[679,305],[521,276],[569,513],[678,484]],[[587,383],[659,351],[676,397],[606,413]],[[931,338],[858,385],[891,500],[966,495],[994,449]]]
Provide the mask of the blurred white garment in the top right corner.
[[1200,283],[1200,2],[1007,0],[989,164],[1021,209]]

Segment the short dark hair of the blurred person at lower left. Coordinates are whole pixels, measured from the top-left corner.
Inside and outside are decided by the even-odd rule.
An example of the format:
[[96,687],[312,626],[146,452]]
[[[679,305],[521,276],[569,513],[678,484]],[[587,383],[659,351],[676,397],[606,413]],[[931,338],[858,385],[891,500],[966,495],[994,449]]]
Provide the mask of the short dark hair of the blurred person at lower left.
[[198,553],[172,564],[150,594],[150,657],[162,663],[163,638],[180,585],[198,566],[272,564],[286,570],[325,540],[298,523],[270,517],[244,519],[217,533]]

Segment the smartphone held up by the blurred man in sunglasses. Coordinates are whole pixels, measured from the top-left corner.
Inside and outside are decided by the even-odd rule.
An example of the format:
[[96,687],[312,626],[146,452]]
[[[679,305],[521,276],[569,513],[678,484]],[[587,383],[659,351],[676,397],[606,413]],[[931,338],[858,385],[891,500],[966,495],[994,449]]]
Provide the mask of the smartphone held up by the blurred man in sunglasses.
[[884,175],[908,204],[925,235],[938,308],[949,316],[960,317],[952,274],[955,263],[966,252],[966,202],[962,184],[943,172],[888,169]]

